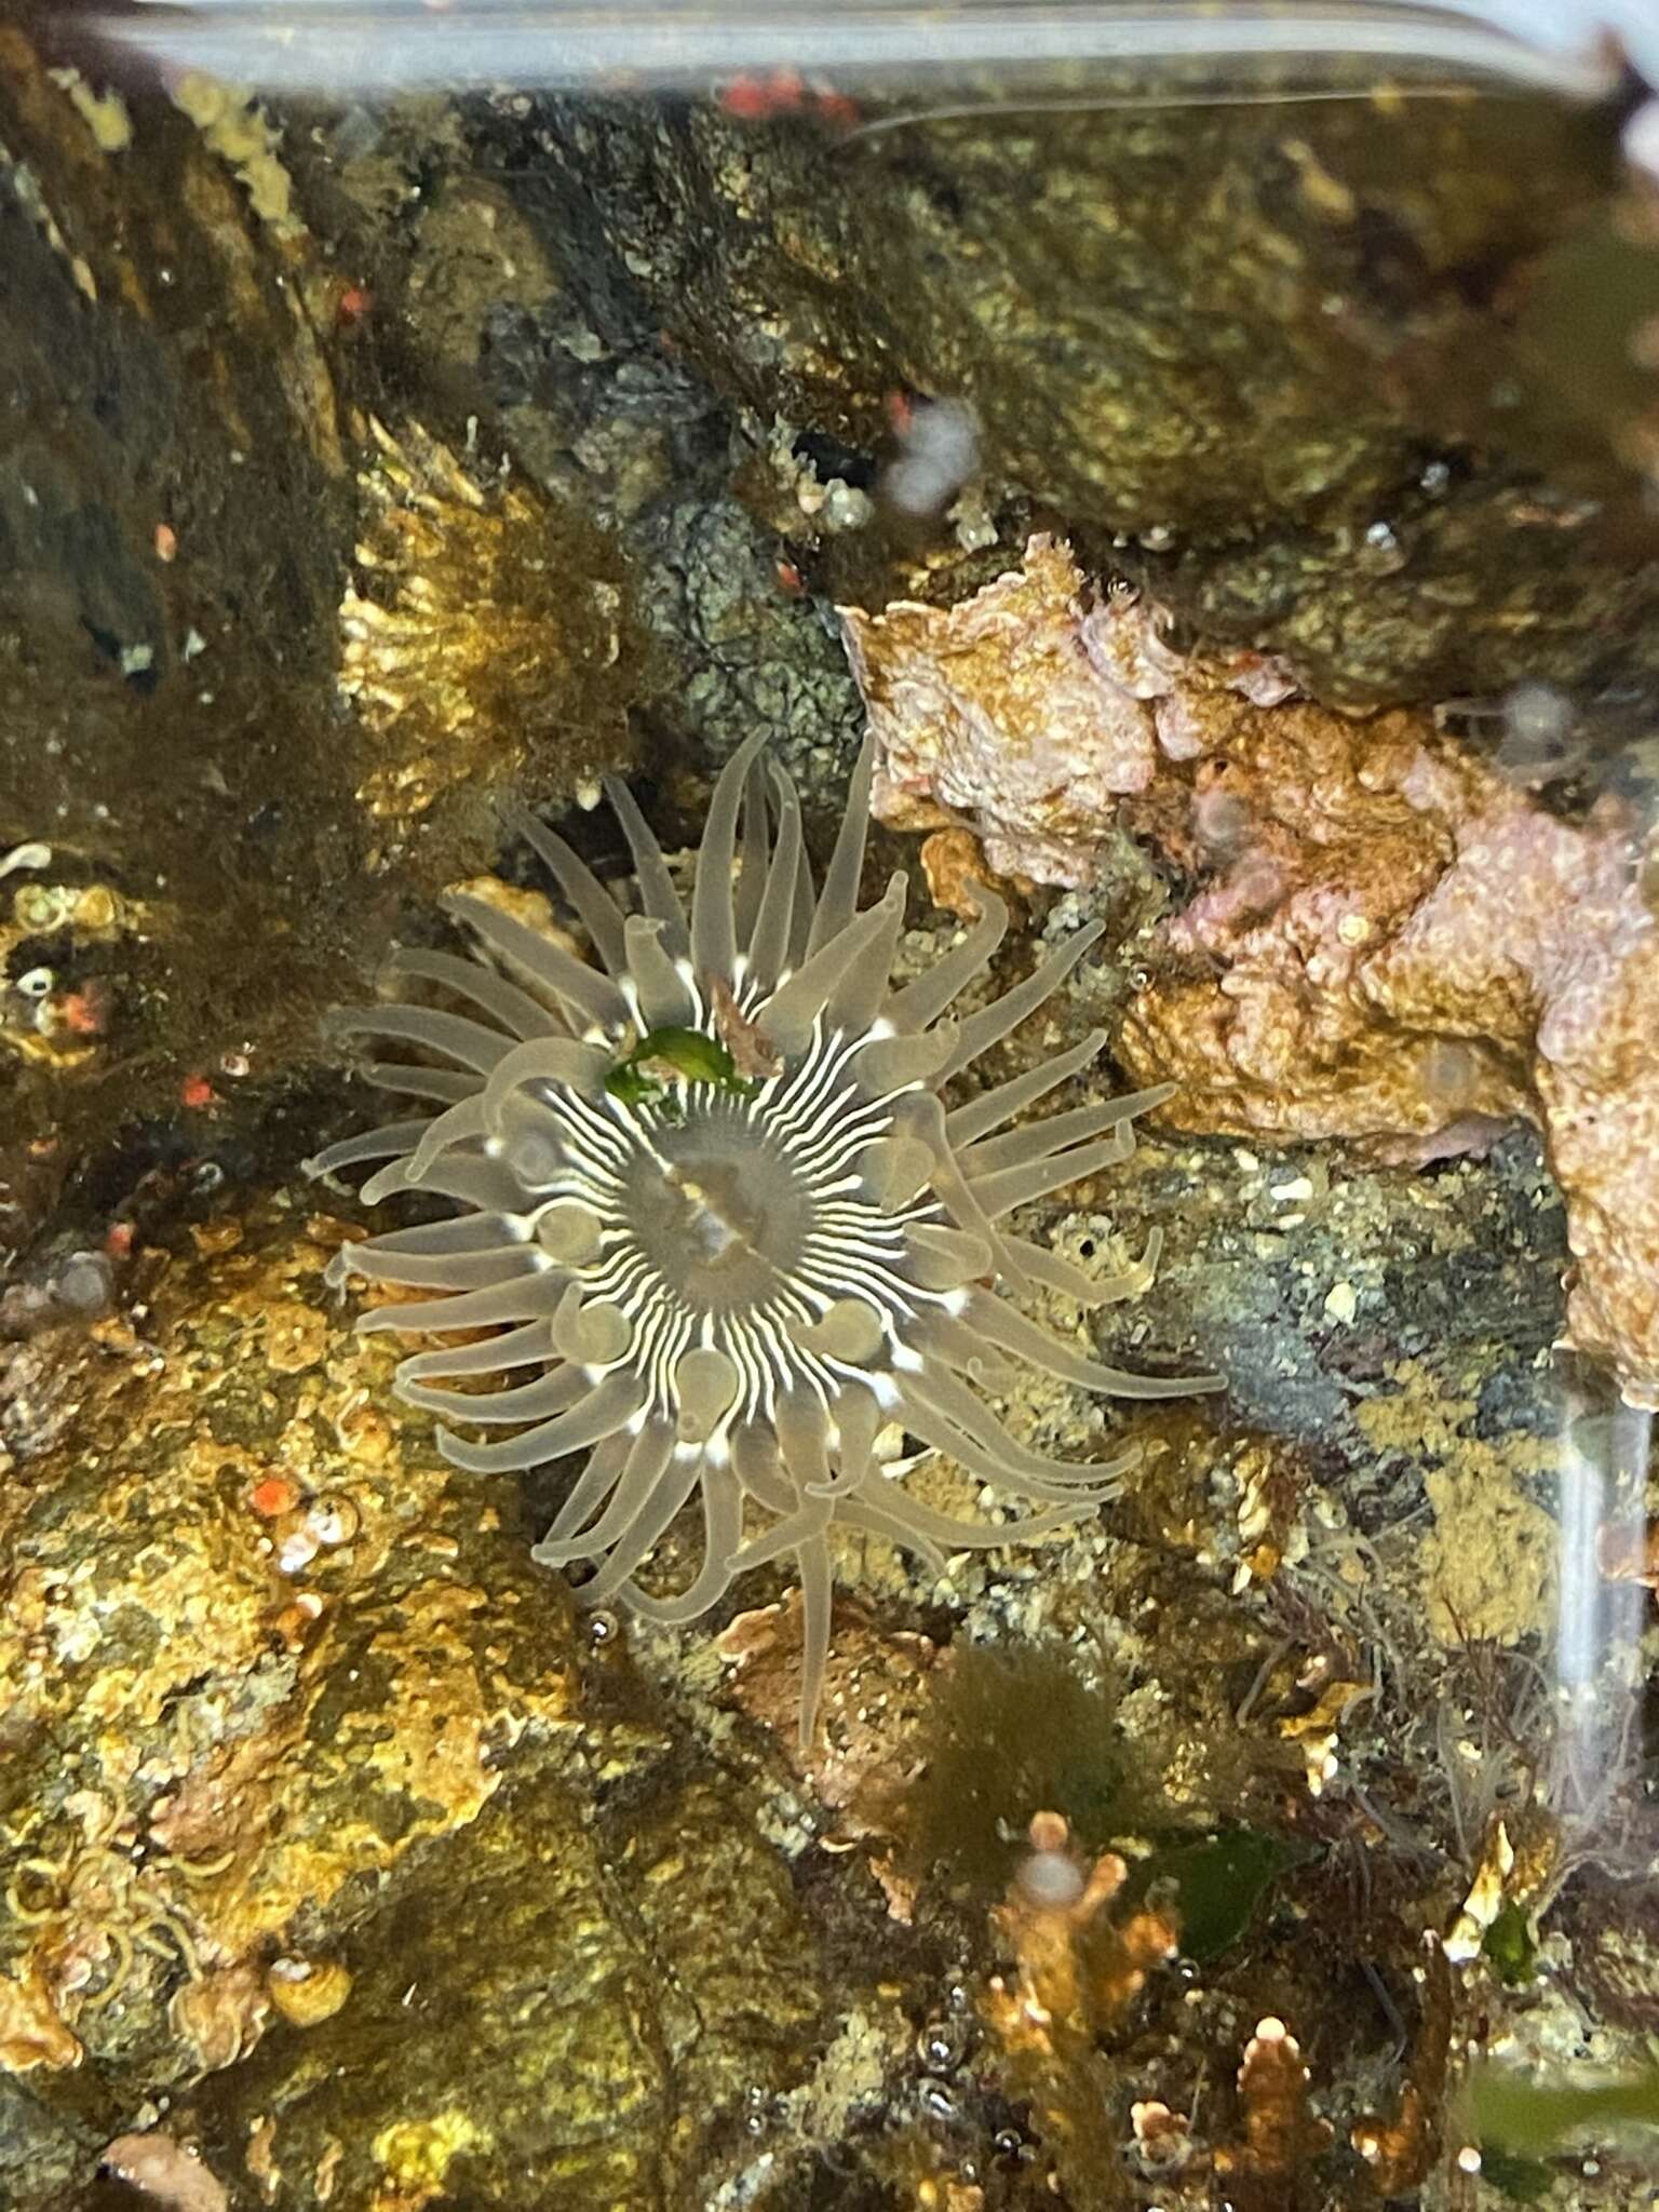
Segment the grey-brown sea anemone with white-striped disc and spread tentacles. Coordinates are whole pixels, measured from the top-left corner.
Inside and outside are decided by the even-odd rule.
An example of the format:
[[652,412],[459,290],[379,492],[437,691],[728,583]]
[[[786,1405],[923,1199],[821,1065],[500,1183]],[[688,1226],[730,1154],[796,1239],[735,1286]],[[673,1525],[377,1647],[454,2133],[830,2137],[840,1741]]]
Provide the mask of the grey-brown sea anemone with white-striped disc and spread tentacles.
[[[1000,1223],[1121,1161],[1133,1117],[1164,1093],[1006,1130],[1095,1060],[1095,1033],[945,1110],[940,1086],[1037,1009],[1099,929],[951,1020],[1006,927],[987,891],[962,945],[894,991],[905,878],[858,909],[869,772],[865,748],[814,889],[790,779],[759,741],[741,748],[710,801],[690,914],[624,785],[608,796],[633,852],[637,914],[560,836],[522,818],[597,964],[451,896],[480,958],[398,951],[394,987],[422,991],[347,1022],[422,1055],[369,1071],[422,1115],[314,1161],[330,1172],[383,1159],[367,1201],[416,1190],[462,1208],[352,1243],[332,1272],[445,1292],[380,1305],[365,1329],[491,1332],[398,1367],[405,1400],[515,1429],[498,1442],[447,1433],[451,1462],[509,1473],[588,1453],[538,1559],[595,1559],[588,1599],[690,1621],[734,1575],[796,1555],[807,1741],[830,1637],[832,1524],[889,1537],[942,1573],[947,1548],[1064,1526],[1124,1467],[1031,1451],[973,1383],[995,1385],[1009,1360],[1130,1398],[1212,1383],[1106,1367],[989,1287],[1035,1283],[1099,1305],[1144,1285],[1146,1263],[1095,1283]],[[478,1389],[520,1369],[529,1380]],[[1040,1511],[989,1526],[909,1495],[876,1458],[891,1422]],[[692,1493],[701,1566],[684,1590],[653,1593],[635,1577]]]

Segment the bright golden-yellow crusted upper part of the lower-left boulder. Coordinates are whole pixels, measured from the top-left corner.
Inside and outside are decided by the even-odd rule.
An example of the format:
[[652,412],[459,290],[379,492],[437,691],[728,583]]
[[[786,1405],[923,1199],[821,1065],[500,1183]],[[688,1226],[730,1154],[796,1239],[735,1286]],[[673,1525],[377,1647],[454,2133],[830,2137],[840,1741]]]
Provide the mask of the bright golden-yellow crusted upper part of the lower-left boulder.
[[[316,1250],[204,1241],[226,1245],[188,1263],[210,1303],[168,1312],[175,1267],[166,1347],[106,1347],[75,1444],[11,1491],[0,1686],[13,1763],[44,1783],[9,1838],[27,1867],[11,1889],[38,1907],[27,1964],[55,1978],[66,2026],[102,2015],[93,2044],[122,2017],[111,1978],[135,1927],[126,1898],[82,1907],[88,1854],[142,1843],[135,1920],[170,1916],[201,1971],[226,1971],[301,1905],[325,1911],[347,1878],[473,1820],[493,1754],[573,1701],[555,1608],[478,1619],[440,1467],[372,1407],[378,1363],[294,1296]],[[343,1705],[349,1666],[374,1703]],[[77,1787],[53,1801],[66,1736]]]

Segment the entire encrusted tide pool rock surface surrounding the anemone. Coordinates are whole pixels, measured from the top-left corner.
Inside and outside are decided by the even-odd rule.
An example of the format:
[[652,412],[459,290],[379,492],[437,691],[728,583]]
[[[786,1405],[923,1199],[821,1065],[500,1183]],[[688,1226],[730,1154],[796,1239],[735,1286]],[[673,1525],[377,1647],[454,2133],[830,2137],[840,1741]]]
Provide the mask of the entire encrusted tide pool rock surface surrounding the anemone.
[[[283,108],[44,29],[0,0],[0,2197],[1462,2208],[1458,2053],[1619,2070],[1659,2004],[1639,1420],[1553,1358],[1564,1212],[1500,1135],[1546,1130],[1575,1336],[1646,1358],[1619,117],[792,71]],[[823,838],[836,604],[947,816],[880,863],[971,918],[995,832],[998,980],[1106,925],[993,1073],[1104,1024],[1228,1133],[1033,1210],[1102,1274],[1166,1232],[1144,1298],[1046,1318],[1228,1394],[1022,1376],[1018,1433],[1133,1482],[940,1579],[849,1540],[801,1765],[787,1582],[582,1619],[529,1562],[564,1471],[440,1462],[290,1194],[365,1117],[321,1018],[500,860],[498,794],[628,761],[690,845],[763,721]],[[1520,679],[1571,688],[1542,796],[1489,759]],[[1573,1584],[1610,1635],[1564,1705],[1586,1482],[1621,1579]],[[1099,1909],[1020,1911],[1033,1854]],[[1646,2205],[1595,2148],[1486,2179]]]

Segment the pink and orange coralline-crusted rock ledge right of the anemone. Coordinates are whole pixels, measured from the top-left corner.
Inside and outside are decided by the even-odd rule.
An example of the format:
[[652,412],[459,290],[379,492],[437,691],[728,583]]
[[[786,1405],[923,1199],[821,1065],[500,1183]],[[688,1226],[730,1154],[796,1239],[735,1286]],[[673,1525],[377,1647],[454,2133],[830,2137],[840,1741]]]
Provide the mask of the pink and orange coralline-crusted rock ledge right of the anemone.
[[1659,925],[1626,810],[1559,821],[1422,714],[1360,721],[1263,657],[1177,655],[1144,602],[1091,606],[1048,540],[967,606],[849,635],[889,821],[964,821],[993,867],[1062,885],[1121,825],[1194,885],[1115,1040],[1179,1084],[1168,1119],[1396,1161],[1533,1121],[1568,1210],[1568,1343],[1659,1405]]

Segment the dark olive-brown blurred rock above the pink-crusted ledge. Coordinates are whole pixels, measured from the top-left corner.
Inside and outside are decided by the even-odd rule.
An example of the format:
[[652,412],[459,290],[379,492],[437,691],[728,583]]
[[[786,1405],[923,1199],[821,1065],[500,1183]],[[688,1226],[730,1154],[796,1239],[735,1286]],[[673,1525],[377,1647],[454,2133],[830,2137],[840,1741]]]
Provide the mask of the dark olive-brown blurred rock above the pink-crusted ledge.
[[1650,538],[1608,531],[1659,307],[1617,119],[1340,88],[989,86],[869,131],[560,108],[551,159],[763,420],[876,456],[894,392],[967,403],[993,482],[1325,697],[1652,672]]

